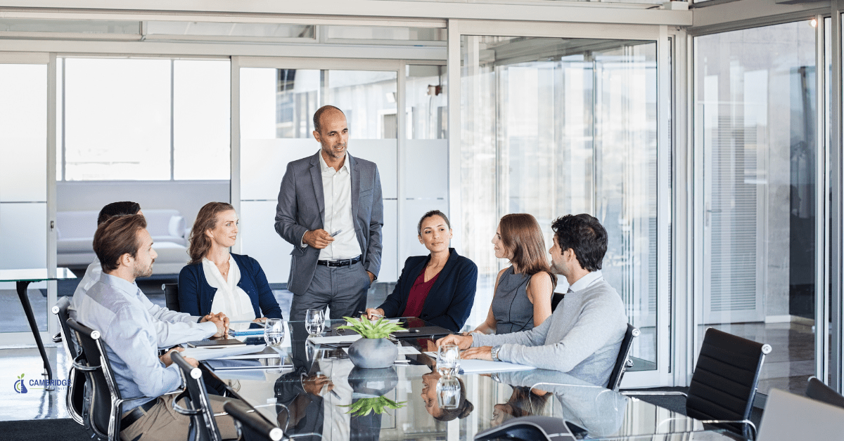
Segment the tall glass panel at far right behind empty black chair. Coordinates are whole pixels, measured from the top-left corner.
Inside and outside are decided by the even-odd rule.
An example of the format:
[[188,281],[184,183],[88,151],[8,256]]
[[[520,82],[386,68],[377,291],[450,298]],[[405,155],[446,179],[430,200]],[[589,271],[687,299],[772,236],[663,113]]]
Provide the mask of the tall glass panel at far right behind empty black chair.
[[695,38],[706,210],[695,350],[709,326],[771,344],[762,393],[800,393],[815,374],[815,49],[809,20]]

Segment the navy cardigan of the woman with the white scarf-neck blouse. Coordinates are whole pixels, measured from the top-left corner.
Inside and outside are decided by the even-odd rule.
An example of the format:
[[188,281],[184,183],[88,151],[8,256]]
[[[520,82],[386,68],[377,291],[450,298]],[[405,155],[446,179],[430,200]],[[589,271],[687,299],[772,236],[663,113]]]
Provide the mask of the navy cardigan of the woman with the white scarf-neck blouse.
[[[255,317],[281,319],[281,308],[275,301],[273,290],[269,288],[267,276],[264,275],[258,261],[248,255],[231,253],[237,267],[241,270],[241,281],[237,286],[252,300]],[[217,288],[211,288],[205,280],[202,262],[187,265],[179,272],[179,308],[181,312],[190,315],[211,314],[211,303]],[[263,311],[263,312],[262,312]],[[219,311],[217,311],[219,312]]]

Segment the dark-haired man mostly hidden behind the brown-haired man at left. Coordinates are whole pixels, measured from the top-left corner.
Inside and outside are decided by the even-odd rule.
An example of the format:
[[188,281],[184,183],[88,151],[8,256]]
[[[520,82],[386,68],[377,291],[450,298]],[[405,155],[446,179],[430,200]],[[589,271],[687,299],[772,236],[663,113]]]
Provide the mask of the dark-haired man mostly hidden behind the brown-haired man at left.
[[[143,215],[138,202],[111,202],[100,210],[100,215],[97,217],[97,225],[99,226],[114,216],[133,214]],[[85,270],[82,281],[79,282],[76,291],[73,293],[73,301],[70,304],[70,309],[78,309],[79,298],[84,297],[84,294],[96,282],[100,281],[101,274],[102,266],[100,265],[100,259],[95,258],[94,262]],[[228,319],[222,313],[197,317],[162,308],[152,303],[143,293],[140,293],[138,298],[153,318],[155,336],[157,337],[158,346],[162,348],[173,347],[184,342],[202,340],[208,335],[209,331],[216,332],[217,325],[209,322],[209,320],[222,320],[224,325],[228,325]]]

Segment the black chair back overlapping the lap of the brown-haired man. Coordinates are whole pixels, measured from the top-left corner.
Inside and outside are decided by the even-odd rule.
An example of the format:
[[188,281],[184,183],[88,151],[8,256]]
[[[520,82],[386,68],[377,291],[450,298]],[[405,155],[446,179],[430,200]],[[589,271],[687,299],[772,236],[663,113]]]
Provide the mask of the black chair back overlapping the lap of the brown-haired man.
[[[191,430],[195,441],[221,441],[217,422],[214,421],[214,411],[208,401],[208,392],[203,382],[203,371],[194,368],[181,357],[179,352],[170,352],[170,359],[181,369],[182,379],[185,380],[185,391],[174,401],[176,411],[191,417]],[[187,398],[187,400],[181,400]],[[187,411],[181,407],[181,401],[186,401]]]

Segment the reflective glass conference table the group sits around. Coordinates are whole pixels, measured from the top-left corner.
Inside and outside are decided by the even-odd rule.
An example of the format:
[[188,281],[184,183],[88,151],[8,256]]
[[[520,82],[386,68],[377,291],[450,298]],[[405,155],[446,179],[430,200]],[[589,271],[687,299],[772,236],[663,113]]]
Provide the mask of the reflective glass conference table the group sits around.
[[[413,319],[414,325],[425,324]],[[327,321],[327,334],[344,322]],[[659,440],[743,440],[708,430],[685,417],[633,397],[557,371],[533,369],[498,374],[457,375],[461,400],[443,410],[437,401],[441,379],[433,339],[399,339],[392,368],[355,368],[342,347],[306,341],[304,322],[289,322],[290,347],[279,358],[207,361],[205,368],[222,380],[231,395],[246,401],[296,439],[326,440],[471,440],[476,433],[513,417],[542,415],[565,419],[576,438]],[[347,331],[348,332],[348,331]],[[436,336],[435,336],[436,337]],[[463,398],[465,395],[465,398]],[[381,414],[351,415],[360,402],[381,397],[398,403]],[[309,435],[310,434],[310,435]]]

